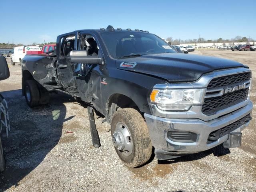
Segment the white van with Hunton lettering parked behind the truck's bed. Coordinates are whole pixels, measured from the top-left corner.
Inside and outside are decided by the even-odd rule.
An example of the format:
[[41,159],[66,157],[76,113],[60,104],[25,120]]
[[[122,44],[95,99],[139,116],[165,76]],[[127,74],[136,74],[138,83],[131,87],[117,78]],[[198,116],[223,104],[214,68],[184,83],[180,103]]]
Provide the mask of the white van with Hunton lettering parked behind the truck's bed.
[[14,47],[13,54],[11,56],[11,64],[20,63],[26,54],[42,54],[40,46],[18,46]]

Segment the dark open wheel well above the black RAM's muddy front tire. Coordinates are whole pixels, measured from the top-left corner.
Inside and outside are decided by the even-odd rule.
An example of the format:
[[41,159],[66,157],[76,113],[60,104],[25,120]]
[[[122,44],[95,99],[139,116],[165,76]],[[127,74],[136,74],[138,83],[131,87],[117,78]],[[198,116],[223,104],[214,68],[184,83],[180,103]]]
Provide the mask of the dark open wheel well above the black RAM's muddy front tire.
[[128,96],[125,96],[123,94],[114,94],[110,96],[110,98],[108,99],[108,104],[106,108],[108,122],[111,122],[114,112],[116,112],[118,109],[123,109],[123,108],[134,108],[138,110],[138,112],[140,112],[138,106]]

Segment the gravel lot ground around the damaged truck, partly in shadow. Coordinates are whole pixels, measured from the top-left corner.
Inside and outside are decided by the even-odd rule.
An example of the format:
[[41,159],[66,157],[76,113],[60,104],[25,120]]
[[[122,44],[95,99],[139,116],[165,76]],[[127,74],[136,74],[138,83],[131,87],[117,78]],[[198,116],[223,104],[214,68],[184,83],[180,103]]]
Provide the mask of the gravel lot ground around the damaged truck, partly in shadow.
[[[256,52],[189,54],[237,60],[250,66],[256,79]],[[152,159],[131,169],[119,160],[110,125],[101,123],[101,116],[95,115],[102,146],[94,148],[83,106],[64,94],[51,94],[48,106],[30,109],[21,95],[20,65],[10,66],[10,73],[0,85],[11,122],[9,137],[2,135],[7,168],[0,174],[0,191],[256,191],[255,110],[240,148],[217,146],[174,160]],[[255,86],[251,99],[255,108]]]

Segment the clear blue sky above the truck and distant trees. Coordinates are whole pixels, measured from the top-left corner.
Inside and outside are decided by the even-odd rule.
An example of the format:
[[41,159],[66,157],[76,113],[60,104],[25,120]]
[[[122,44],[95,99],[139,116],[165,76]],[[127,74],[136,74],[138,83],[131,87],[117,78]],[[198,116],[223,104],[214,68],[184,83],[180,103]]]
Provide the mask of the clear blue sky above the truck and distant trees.
[[55,42],[78,29],[131,28],[162,38],[256,39],[256,0],[2,0],[0,42]]

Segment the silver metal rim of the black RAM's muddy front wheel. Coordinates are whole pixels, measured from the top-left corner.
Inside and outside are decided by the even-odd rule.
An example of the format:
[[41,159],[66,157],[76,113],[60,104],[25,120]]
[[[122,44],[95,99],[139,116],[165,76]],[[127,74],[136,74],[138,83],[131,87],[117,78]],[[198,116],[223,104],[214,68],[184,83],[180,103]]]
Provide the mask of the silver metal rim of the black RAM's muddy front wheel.
[[130,156],[133,151],[133,142],[129,129],[123,122],[116,124],[115,131],[112,135],[112,142],[124,156]]

